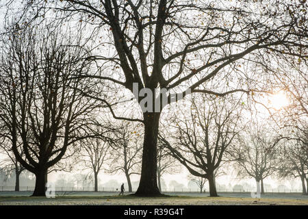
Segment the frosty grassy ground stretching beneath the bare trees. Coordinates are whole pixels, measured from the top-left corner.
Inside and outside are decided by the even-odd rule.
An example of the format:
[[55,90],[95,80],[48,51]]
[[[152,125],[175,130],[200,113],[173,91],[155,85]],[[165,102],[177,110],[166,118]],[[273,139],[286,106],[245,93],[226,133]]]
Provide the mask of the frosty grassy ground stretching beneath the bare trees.
[[[304,198],[303,198],[304,197]],[[65,195],[55,198],[28,196],[1,196],[0,205],[308,205],[308,198],[246,198],[207,196],[166,196],[140,198],[136,196],[79,196]]]

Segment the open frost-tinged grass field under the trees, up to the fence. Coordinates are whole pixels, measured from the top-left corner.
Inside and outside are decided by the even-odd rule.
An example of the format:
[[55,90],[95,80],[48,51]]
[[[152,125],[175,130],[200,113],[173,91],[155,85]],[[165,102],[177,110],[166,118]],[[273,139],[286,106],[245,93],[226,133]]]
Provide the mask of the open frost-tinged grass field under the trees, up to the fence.
[[56,198],[29,197],[31,192],[0,192],[0,205],[308,205],[308,196],[301,194],[266,194],[251,198],[248,193],[209,194],[168,193],[170,196],[140,198],[118,196],[116,192],[57,193]]

